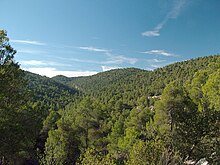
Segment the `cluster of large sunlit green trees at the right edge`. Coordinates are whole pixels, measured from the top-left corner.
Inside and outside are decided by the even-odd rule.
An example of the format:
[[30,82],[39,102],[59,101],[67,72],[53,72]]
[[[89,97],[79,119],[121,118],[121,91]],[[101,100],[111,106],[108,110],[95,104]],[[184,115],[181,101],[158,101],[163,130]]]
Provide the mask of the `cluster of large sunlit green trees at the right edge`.
[[165,88],[157,102],[154,120],[169,149],[170,160],[178,153],[182,161],[205,158],[219,163],[213,158],[218,153],[220,135],[218,76],[218,70],[201,70],[191,84],[187,82],[187,88],[175,82]]

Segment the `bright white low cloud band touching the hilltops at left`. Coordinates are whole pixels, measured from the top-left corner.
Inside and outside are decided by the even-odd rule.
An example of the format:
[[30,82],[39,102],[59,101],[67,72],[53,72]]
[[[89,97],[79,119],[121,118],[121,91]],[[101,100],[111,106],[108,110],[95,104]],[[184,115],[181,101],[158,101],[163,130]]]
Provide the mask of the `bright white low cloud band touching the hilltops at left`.
[[57,70],[56,68],[50,68],[50,67],[24,68],[24,70],[47,77],[54,77],[57,75],[64,75],[67,77],[80,77],[80,76],[91,76],[98,73],[96,71]]

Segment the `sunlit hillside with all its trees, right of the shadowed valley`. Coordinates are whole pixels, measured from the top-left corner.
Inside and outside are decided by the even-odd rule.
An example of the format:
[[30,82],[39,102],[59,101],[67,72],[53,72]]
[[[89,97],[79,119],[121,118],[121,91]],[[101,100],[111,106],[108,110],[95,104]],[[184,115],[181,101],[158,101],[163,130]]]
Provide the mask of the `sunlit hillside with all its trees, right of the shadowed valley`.
[[220,163],[220,55],[52,79],[83,97],[49,132],[47,163]]

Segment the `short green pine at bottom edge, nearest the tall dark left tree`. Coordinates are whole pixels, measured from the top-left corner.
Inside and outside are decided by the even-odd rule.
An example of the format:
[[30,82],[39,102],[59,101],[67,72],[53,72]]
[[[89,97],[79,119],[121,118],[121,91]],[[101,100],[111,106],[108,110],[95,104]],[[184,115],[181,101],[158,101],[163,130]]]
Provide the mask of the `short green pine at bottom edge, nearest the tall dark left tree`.
[[57,122],[57,129],[49,131],[45,144],[45,155],[42,164],[60,165],[76,163],[80,155],[79,132],[69,122],[69,118],[62,116]]

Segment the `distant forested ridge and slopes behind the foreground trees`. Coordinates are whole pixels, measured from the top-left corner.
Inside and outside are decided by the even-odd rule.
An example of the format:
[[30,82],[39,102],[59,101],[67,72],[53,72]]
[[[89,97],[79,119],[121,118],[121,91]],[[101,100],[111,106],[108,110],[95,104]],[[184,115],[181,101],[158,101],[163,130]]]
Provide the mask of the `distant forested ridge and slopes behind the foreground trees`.
[[192,79],[200,69],[220,61],[220,55],[200,57],[167,65],[153,71],[137,68],[114,69],[86,77],[48,78],[30,72],[26,73],[28,87],[36,100],[44,100],[55,108],[64,107],[79,93],[95,96],[106,102],[113,97],[136,98],[147,95],[161,95],[167,84],[174,80],[185,82]]

